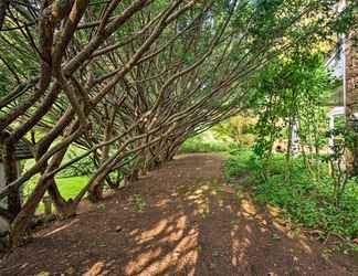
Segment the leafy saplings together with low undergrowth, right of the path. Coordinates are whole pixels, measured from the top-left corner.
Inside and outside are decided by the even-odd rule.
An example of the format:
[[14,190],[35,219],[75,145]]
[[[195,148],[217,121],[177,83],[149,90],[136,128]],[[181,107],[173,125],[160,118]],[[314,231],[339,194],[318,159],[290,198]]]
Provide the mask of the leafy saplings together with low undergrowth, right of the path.
[[[344,116],[328,130],[331,107],[324,103],[335,86],[320,53],[294,52],[271,63],[250,86],[256,91],[255,141],[231,151],[225,176],[251,188],[259,202],[280,206],[295,225],[324,240],[338,236],[357,251],[358,178],[347,164],[356,134]],[[294,127],[297,150],[291,145]]]

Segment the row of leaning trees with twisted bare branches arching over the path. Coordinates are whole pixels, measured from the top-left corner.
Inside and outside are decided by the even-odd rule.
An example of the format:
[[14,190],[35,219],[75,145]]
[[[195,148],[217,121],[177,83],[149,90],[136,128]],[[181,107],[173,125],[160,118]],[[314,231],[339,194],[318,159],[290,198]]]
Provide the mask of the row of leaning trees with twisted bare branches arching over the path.
[[[189,137],[259,103],[264,92],[250,87],[267,64],[349,32],[354,4],[337,12],[338,2],[2,1],[0,198],[10,243],[22,243],[45,193],[59,216],[72,216],[84,197],[99,201],[104,187],[145,174]],[[23,139],[34,162],[18,177]],[[66,199],[59,177],[69,168],[90,179]]]

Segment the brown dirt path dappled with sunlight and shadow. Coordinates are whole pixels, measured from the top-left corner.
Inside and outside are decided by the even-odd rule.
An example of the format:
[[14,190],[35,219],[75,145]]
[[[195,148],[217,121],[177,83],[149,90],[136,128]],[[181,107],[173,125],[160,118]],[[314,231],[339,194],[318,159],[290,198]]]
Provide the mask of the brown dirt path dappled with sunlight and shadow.
[[0,262],[0,275],[358,275],[352,258],[274,214],[224,184],[219,155],[181,156],[39,231]]

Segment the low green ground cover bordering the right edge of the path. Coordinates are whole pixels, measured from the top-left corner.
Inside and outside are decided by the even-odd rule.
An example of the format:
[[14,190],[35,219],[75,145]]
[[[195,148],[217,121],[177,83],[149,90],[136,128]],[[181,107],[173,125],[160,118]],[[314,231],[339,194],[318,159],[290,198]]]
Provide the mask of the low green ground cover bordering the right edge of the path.
[[[289,179],[284,171],[283,156],[274,156],[268,163],[270,174],[260,173],[264,166],[248,150],[232,152],[225,163],[228,178],[252,172],[251,188],[254,198],[262,203],[280,206],[286,217],[305,227],[319,229],[355,238],[358,235],[358,185],[351,179],[341,194],[340,205],[335,204],[333,179],[316,179],[306,169],[303,158],[297,158],[289,168]],[[240,183],[236,183],[240,184]]]

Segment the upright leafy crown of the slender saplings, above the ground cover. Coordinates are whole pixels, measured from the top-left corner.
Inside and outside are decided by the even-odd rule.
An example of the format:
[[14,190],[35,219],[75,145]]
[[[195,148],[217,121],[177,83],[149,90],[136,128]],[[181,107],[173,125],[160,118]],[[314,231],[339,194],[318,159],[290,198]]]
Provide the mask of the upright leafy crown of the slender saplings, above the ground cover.
[[255,152],[270,156],[275,140],[281,137],[289,140],[295,121],[299,123],[301,140],[319,147],[318,130],[325,121],[320,104],[333,82],[323,55],[306,50],[287,53],[257,74],[250,86],[251,107],[259,118],[254,127]]

